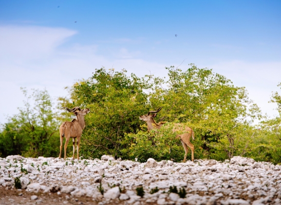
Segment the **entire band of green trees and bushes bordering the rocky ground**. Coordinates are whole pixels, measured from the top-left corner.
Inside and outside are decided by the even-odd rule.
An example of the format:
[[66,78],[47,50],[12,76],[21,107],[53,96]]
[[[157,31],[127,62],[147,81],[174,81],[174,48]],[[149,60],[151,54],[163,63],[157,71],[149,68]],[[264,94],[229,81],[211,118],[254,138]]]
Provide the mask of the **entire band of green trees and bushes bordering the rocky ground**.
[[[171,132],[173,123],[181,122],[195,132],[195,140],[191,141],[195,146],[195,158],[224,160],[241,155],[281,162],[281,118],[262,117],[244,87],[234,86],[230,80],[207,68],[191,65],[186,71],[166,69],[167,79],[153,75],[128,76],[126,70],[96,69],[92,77],[72,86],[69,99],[59,99],[59,107],[91,109],[85,117],[87,126],[81,139],[83,157],[112,154],[139,161],[149,157],[181,161],[184,149],[179,139],[175,139],[176,134]],[[20,110],[19,115],[4,124],[0,134],[2,156],[57,156],[58,121],[68,120],[70,114],[53,113],[47,93],[39,93],[37,91],[33,97],[41,102],[41,108],[38,108],[40,103],[33,108],[27,103],[25,110]],[[281,112],[278,93],[273,95],[272,102],[278,104]],[[139,116],[160,106],[163,108],[155,120],[164,118],[167,123],[160,132],[148,133]],[[42,110],[48,112],[42,115]],[[253,125],[254,120],[261,122]],[[190,152],[187,158],[190,159]]]

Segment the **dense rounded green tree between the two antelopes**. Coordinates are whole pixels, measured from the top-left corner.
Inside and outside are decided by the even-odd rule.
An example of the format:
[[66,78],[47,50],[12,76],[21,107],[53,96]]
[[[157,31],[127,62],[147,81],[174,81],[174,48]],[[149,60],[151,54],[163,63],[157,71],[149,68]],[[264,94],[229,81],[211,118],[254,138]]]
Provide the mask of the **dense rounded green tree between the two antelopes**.
[[124,134],[139,129],[138,116],[148,107],[143,89],[146,85],[141,79],[133,74],[126,76],[126,70],[106,72],[104,68],[74,85],[75,106],[82,102],[80,106],[91,109],[85,117],[86,128],[81,139],[81,153],[85,157],[120,156]]

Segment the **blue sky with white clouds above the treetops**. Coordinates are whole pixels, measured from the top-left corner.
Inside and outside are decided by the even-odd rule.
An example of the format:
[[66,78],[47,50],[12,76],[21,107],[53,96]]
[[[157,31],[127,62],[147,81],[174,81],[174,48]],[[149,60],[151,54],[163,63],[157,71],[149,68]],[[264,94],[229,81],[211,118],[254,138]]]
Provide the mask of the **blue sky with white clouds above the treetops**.
[[0,0],[0,123],[23,105],[21,86],[55,100],[95,68],[165,76],[184,60],[245,86],[274,116],[280,36],[280,0]]

